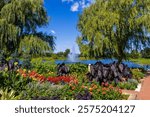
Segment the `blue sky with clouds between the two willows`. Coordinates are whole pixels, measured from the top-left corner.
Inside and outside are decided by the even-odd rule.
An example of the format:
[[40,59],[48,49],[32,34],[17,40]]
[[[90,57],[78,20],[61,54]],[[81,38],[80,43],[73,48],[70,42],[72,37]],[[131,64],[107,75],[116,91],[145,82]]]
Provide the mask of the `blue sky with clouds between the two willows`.
[[53,33],[57,37],[55,52],[75,48],[79,53],[76,38],[80,34],[77,30],[78,15],[93,0],[44,0],[50,21],[41,30]]

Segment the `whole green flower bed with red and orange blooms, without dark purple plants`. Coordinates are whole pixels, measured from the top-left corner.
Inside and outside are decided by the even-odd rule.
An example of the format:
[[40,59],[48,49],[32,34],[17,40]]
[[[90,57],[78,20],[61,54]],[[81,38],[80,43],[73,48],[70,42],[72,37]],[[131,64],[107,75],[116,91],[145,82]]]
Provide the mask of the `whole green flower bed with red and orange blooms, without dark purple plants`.
[[31,70],[1,71],[0,89],[7,88],[8,94],[13,90],[17,99],[24,100],[120,100],[127,99],[121,89],[134,90],[138,84],[137,76],[143,77],[142,70],[133,69],[134,79],[117,86],[108,83],[100,86],[86,78],[87,65],[81,63],[69,64],[70,74],[58,77],[56,64],[51,61],[38,58],[32,60],[32,64]]

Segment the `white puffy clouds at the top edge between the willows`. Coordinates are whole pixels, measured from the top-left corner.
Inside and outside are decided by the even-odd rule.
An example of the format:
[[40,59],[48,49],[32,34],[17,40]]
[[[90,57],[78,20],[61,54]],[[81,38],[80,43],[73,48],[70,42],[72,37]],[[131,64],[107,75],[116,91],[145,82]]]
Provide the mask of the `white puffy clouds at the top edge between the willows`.
[[79,11],[89,7],[95,0],[62,0],[62,2],[72,3],[71,11]]

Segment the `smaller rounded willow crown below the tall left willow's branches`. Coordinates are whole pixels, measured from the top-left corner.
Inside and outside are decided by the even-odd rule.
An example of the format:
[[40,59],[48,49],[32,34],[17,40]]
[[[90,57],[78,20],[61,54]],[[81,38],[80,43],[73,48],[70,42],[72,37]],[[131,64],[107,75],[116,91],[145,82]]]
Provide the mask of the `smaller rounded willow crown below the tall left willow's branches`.
[[24,36],[19,46],[19,53],[24,52],[30,55],[46,55],[54,50],[54,42],[51,36],[46,34],[30,34]]

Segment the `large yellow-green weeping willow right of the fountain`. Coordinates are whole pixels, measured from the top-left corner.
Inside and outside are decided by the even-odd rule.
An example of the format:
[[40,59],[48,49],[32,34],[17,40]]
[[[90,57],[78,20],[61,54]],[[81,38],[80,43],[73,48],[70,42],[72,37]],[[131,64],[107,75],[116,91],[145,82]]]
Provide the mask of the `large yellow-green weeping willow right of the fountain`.
[[81,54],[126,59],[150,44],[150,0],[96,0],[79,17]]

